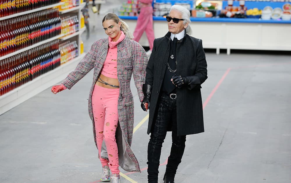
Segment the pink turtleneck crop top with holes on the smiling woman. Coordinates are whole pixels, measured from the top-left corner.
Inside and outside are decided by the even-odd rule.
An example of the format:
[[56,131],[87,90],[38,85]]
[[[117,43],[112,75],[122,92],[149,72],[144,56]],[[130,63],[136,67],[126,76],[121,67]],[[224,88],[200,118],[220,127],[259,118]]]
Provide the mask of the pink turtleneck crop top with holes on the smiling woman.
[[124,38],[123,31],[121,31],[121,35],[116,42],[112,41],[111,37],[108,37],[109,50],[101,71],[101,74],[106,77],[117,79],[117,44],[124,40]]

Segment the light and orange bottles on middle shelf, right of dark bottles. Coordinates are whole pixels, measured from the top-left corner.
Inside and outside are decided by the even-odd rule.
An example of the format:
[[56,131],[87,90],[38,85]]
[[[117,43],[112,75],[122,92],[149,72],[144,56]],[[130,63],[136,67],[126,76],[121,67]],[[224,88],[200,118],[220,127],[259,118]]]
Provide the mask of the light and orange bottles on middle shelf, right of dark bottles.
[[69,35],[79,31],[79,19],[77,16],[61,18],[61,34]]

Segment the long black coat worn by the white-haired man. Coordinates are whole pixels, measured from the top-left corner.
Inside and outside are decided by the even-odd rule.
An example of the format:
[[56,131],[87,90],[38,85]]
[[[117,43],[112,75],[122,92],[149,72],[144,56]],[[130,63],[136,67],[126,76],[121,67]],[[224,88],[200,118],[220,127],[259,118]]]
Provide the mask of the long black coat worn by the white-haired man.
[[[154,47],[146,68],[145,83],[152,85],[149,105],[149,134],[157,114],[158,100],[170,54],[170,36],[155,39]],[[195,82],[187,87],[177,88],[177,133],[178,135],[204,132],[201,84],[207,79],[207,63],[202,40],[185,33],[177,42],[177,76],[195,76]]]

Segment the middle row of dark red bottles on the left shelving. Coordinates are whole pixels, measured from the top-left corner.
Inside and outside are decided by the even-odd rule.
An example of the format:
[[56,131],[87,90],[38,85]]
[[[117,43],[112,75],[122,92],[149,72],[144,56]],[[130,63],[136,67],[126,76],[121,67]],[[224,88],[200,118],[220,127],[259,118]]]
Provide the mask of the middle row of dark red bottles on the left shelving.
[[58,9],[47,9],[0,21],[0,56],[61,33]]

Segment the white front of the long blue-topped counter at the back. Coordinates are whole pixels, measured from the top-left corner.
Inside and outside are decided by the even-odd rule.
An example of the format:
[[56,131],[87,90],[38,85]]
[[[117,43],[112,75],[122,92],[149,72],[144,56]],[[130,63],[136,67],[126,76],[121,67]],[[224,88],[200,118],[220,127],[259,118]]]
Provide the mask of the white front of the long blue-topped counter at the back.
[[[120,18],[123,19],[123,17]],[[276,23],[269,23],[269,21],[265,20],[260,23],[242,23],[227,21],[227,19],[239,21],[241,20],[239,18],[216,19],[223,19],[226,21],[193,22],[191,19],[192,23],[189,26],[194,30],[192,36],[203,40],[203,48],[217,49],[217,54],[220,53],[220,49],[226,49],[227,54],[230,54],[230,50],[232,49],[291,51],[291,44],[289,41],[286,41],[291,40],[291,21],[274,20],[273,22]],[[202,20],[202,18],[200,18],[200,20]],[[134,27],[136,27],[136,20],[128,19],[126,23],[130,28],[129,31],[133,32]],[[153,27],[155,37],[164,37],[168,30],[168,24],[165,18],[163,21],[154,20]],[[211,30],[215,30],[215,33],[211,34]],[[141,36],[139,44],[142,46],[149,45],[145,34]]]

